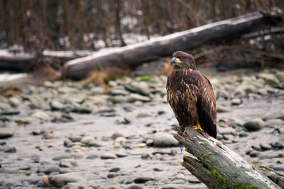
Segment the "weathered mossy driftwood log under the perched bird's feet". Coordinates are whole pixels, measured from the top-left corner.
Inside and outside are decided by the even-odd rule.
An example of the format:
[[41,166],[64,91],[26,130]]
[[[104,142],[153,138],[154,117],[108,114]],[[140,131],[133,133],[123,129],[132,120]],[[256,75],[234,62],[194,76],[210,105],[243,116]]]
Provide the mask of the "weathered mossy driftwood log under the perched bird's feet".
[[208,188],[280,188],[260,168],[207,133],[187,127],[175,139],[192,155],[184,156],[182,165]]

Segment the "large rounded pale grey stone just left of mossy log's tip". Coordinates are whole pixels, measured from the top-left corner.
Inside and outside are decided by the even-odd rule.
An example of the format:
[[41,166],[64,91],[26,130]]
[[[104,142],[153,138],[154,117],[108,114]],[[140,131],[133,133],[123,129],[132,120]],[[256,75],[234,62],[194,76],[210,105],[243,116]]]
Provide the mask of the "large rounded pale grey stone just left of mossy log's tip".
[[177,147],[179,142],[168,132],[157,132],[154,134],[155,147]]

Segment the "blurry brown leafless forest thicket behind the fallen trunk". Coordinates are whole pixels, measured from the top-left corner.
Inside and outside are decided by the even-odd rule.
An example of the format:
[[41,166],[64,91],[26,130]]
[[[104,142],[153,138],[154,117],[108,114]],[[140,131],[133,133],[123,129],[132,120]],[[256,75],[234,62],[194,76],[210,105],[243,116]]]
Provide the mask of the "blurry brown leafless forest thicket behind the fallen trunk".
[[[36,53],[120,47],[253,11],[277,13],[283,8],[281,0],[2,0],[0,49],[15,44]],[[242,55],[234,58],[237,62],[283,61],[283,32],[283,25],[278,25],[245,36],[229,44],[236,47],[213,53],[211,62],[226,62],[234,54]],[[249,50],[243,52],[244,46]],[[202,47],[192,54],[214,48]],[[270,54],[263,57],[263,52]]]

